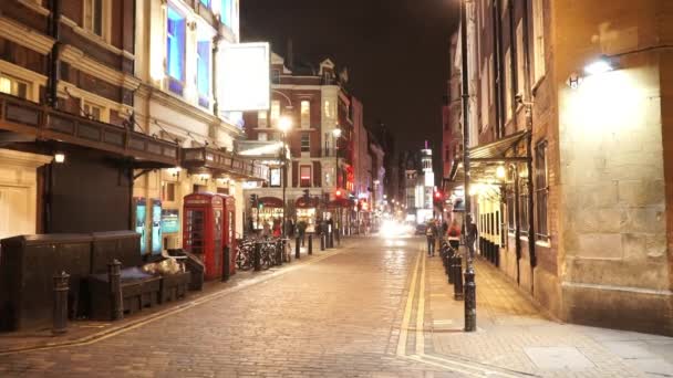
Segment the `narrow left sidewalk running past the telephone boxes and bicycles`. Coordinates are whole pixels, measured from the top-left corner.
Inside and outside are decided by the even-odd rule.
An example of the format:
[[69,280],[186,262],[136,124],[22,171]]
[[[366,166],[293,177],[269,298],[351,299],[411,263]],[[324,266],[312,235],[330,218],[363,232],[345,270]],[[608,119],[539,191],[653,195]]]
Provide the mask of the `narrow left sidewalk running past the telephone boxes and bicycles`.
[[51,328],[49,327],[14,333],[0,333],[0,355],[93,343],[97,339],[113,336],[121,330],[139,327],[154,319],[170,316],[217,297],[237,292],[244,287],[268,281],[278,275],[291,272],[307,263],[314,263],[327,259],[328,256],[340,253],[349,248],[350,244],[356,242],[356,237],[343,238],[340,248],[325,251],[320,251],[320,243],[313,243],[312,255],[308,254],[308,244],[306,244],[307,246],[301,248],[301,259],[299,261],[294,259],[294,249],[292,249],[292,262],[283,263],[282,266],[275,266],[260,272],[253,272],[252,270],[238,271],[226,283],[220,281],[206,282],[203,291],[188,292],[187,296],[183,300],[168,302],[151,308],[144,308],[142,312],[125,316],[122,321],[112,323],[93,321],[70,322],[68,333],[60,336],[53,336],[51,334]]

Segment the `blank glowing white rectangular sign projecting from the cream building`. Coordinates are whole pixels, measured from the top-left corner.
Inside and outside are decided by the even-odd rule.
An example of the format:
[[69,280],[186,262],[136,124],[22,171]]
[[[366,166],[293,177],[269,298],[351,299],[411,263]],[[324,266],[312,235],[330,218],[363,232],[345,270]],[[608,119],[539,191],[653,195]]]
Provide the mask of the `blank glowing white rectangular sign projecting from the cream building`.
[[271,93],[269,71],[269,43],[225,44],[218,80],[221,111],[268,111]]

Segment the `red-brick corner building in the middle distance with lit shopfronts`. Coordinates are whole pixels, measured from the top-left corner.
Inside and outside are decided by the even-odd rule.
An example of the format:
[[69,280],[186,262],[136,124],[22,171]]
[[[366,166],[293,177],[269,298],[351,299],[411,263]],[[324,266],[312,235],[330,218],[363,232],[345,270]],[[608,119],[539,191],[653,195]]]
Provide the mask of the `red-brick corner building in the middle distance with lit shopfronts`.
[[[248,206],[249,223],[260,229],[282,219],[284,186],[287,219],[306,222],[311,232],[319,220],[334,218],[342,232],[358,232],[370,217],[374,188],[364,107],[331,60],[317,67],[291,61],[273,54],[271,111],[245,114],[249,139],[277,146],[269,158],[279,156],[279,146],[289,153],[287,175],[282,158],[276,159],[269,183],[246,190],[263,202]],[[282,118],[291,125],[284,136]]]

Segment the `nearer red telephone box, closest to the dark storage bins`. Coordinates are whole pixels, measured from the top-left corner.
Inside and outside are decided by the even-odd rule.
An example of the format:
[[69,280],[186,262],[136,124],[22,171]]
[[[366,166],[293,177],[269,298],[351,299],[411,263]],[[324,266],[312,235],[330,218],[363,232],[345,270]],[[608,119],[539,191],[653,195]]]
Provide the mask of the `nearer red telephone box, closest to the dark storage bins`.
[[183,248],[201,259],[206,280],[221,277],[225,244],[224,198],[213,193],[185,196],[183,210]]

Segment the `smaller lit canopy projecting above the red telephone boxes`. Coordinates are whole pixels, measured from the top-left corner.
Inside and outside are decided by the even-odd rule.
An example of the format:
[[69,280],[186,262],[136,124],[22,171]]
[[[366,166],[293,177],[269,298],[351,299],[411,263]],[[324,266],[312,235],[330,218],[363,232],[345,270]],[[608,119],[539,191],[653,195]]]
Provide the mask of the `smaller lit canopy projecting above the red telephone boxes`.
[[210,147],[183,148],[180,165],[191,169],[208,168],[215,175],[228,175],[250,181],[266,181],[269,176],[269,167],[265,165]]

